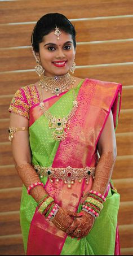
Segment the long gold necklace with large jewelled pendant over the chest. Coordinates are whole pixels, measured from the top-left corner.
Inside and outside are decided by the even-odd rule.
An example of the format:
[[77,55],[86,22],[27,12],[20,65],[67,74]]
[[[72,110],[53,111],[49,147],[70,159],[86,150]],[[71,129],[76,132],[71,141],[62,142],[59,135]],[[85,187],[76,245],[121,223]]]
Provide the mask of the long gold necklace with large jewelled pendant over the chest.
[[76,114],[76,111],[78,109],[78,101],[76,97],[75,90],[73,88],[73,107],[72,110],[69,112],[67,116],[64,116],[63,118],[56,118],[51,114],[50,111],[48,111],[45,107],[45,103],[42,101],[42,90],[41,90],[41,102],[39,103],[39,106],[43,112],[43,115],[46,116],[48,119],[48,127],[50,129],[54,129],[52,131],[52,137],[56,141],[63,141],[65,140],[65,137],[67,136],[67,132],[64,131],[65,128],[69,130],[70,120],[73,118],[73,116]]

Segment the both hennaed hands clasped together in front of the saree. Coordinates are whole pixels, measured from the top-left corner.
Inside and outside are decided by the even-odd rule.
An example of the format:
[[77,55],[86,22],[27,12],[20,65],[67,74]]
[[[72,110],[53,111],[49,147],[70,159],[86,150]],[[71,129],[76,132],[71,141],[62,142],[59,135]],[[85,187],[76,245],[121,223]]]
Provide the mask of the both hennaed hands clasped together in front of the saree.
[[68,236],[82,238],[91,231],[94,220],[86,211],[76,213],[60,207],[52,222]]

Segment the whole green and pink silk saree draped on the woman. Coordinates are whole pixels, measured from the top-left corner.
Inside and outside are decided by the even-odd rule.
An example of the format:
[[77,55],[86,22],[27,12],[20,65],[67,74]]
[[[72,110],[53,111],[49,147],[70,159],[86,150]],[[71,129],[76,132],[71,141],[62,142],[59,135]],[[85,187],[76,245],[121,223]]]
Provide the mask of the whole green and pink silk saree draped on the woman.
[[[65,141],[54,141],[51,136],[51,131],[48,129],[48,120],[38,111],[38,106],[32,108],[31,125],[29,128],[32,163],[45,167],[72,166],[75,168],[83,168],[86,166],[96,166],[98,160],[97,141],[103,131],[111,109],[114,118],[114,128],[117,126],[121,105],[119,98],[119,95],[121,96],[121,86],[116,83],[105,83],[86,79],[79,83],[76,88],[76,94],[78,95],[79,106],[70,124],[70,129],[67,131]],[[51,100],[53,101],[54,99]],[[73,96],[70,90],[63,94],[58,101],[50,104],[49,110],[52,115],[59,116],[60,114],[60,117],[66,116],[72,108],[72,102]],[[56,203],[60,206],[67,207],[69,210],[78,212],[81,210],[79,202],[82,192],[86,192],[92,186],[92,179],[90,179],[88,185],[85,183],[85,180],[82,180],[82,183],[76,181],[74,185],[72,185],[71,190],[67,189],[63,181],[58,183],[54,180],[54,183],[51,184],[47,177],[43,177],[41,180],[45,184],[46,191],[54,197]],[[20,221],[25,252],[27,242],[29,245],[28,248],[32,248],[33,243],[33,248],[32,250],[28,249],[27,255],[114,254],[117,213],[119,208],[119,194],[116,190],[112,188],[109,189],[107,202],[104,204],[99,218],[95,220],[91,232],[81,240],[77,240],[76,238],[72,239],[66,236],[64,232],[56,230],[54,224],[47,223],[43,216],[40,217],[40,222],[38,222],[39,216],[37,216],[36,207],[36,201],[28,196],[25,187],[23,187]],[[34,212],[36,212],[36,214],[34,214]],[[42,234],[40,233],[40,229],[42,229],[45,235],[47,234],[46,238],[42,235],[40,236],[41,241],[38,242],[38,247],[30,238],[32,232],[31,237],[34,237],[36,242],[39,240],[37,234],[34,233],[34,231],[37,230],[36,227],[39,228],[38,235]],[[52,234],[54,234],[54,237]],[[44,246],[42,246],[42,244]],[[59,246],[56,248],[57,244]],[[53,251],[51,247],[54,247],[54,245],[55,248]],[[38,250],[39,253],[36,252]],[[31,251],[34,251],[34,254],[32,254]],[[50,254],[51,252],[52,254]]]

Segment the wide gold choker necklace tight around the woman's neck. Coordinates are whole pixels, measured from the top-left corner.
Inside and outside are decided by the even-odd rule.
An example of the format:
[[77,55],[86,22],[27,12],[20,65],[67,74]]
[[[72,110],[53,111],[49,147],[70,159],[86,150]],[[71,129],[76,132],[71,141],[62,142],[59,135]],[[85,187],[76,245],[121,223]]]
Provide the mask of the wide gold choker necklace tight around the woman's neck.
[[59,96],[60,93],[63,93],[65,89],[68,90],[69,86],[75,82],[74,77],[67,73],[63,76],[43,76],[39,81],[39,86],[45,88],[46,92],[50,90],[52,93]]

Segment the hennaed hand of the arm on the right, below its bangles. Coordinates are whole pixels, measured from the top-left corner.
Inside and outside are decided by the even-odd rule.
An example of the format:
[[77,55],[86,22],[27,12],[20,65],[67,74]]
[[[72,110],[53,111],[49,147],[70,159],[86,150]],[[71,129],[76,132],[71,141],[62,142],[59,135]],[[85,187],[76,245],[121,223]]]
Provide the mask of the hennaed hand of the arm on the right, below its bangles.
[[94,225],[94,216],[85,211],[81,211],[80,213],[82,216],[76,218],[72,225],[67,229],[66,233],[71,237],[82,238],[87,236]]

